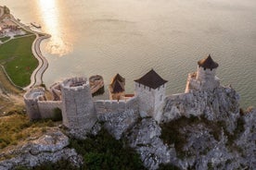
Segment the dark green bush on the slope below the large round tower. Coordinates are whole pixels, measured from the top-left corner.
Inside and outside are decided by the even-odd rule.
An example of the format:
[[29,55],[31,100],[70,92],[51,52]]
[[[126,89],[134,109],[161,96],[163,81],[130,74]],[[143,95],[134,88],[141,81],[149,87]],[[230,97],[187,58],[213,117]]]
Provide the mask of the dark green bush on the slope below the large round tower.
[[82,169],[145,169],[139,155],[102,129],[86,140],[70,140],[70,148],[83,155]]

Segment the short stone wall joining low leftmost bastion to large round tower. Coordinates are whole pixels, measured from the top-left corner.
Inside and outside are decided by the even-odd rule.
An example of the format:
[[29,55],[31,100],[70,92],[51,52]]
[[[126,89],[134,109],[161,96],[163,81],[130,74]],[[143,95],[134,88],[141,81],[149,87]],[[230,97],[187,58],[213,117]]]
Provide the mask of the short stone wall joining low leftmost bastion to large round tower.
[[42,118],[53,117],[56,108],[62,109],[61,101],[38,101],[38,109]]

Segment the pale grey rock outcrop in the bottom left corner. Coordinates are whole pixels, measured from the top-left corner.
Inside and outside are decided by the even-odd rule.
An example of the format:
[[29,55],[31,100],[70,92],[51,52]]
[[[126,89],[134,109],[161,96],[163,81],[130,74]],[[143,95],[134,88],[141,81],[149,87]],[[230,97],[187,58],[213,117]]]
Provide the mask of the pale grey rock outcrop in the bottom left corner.
[[79,166],[83,163],[82,158],[74,149],[66,148],[68,145],[69,138],[54,130],[15,150],[1,153],[1,156],[13,158],[0,162],[0,170],[14,169],[16,166],[33,167],[47,162],[56,163],[61,159]]

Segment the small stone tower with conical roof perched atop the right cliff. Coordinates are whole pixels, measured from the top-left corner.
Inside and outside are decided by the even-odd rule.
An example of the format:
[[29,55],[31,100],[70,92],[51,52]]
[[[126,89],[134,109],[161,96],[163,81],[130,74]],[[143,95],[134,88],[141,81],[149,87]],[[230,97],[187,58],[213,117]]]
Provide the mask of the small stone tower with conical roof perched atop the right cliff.
[[198,61],[198,71],[188,74],[186,92],[212,90],[220,86],[220,79],[216,75],[218,63],[214,62],[211,55]]

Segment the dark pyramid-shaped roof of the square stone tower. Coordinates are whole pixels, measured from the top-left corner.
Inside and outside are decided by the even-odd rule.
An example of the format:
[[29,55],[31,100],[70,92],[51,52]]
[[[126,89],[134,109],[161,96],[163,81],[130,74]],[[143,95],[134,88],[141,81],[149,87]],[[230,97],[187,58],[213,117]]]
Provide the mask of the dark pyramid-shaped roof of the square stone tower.
[[167,82],[167,80],[162,79],[154,69],[151,69],[146,75],[140,79],[135,79],[134,81],[152,89],[157,89]]

